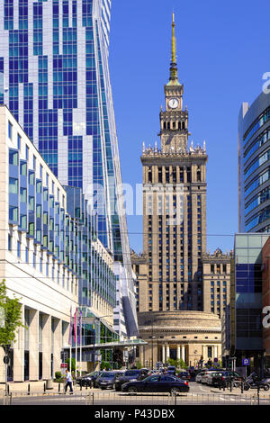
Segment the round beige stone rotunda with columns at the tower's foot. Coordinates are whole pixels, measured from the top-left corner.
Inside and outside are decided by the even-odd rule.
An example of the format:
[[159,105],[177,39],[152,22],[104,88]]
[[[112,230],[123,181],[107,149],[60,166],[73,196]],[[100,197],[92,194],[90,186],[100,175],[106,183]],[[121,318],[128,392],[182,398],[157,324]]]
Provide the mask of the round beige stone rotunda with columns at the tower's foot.
[[202,311],[157,311],[139,313],[139,334],[148,342],[139,348],[143,366],[166,363],[168,358],[182,359],[186,365],[198,365],[202,358],[220,360],[220,319]]

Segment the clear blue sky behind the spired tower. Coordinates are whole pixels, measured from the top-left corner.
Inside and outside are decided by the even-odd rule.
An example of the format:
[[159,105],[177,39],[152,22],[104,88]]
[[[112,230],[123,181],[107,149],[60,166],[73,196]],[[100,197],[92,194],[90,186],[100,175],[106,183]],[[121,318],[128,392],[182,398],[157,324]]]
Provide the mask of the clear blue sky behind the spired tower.
[[[110,70],[124,183],[142,181],[142,142],[158,141],[175,11],[177,64],[194,145],[206,140],[207,233],[238,231],[238,112],[270,71],[266,0],[112,0]],[[142,250],[141,217],[128,217],[130,247]],[[207,248],[233,247],[208,236]]]

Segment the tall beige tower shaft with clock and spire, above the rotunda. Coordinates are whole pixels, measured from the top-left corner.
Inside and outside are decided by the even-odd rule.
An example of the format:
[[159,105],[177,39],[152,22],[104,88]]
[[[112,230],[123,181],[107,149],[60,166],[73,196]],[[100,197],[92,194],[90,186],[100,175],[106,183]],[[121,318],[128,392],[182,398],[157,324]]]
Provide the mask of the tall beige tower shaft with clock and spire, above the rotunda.
[[188,144],[184,85],[178,81],[175,16],[161,148],[145,148],[143,252],[148,278],[139,285],[139,311],[202,311],[202,254],[206,251],[206,162],[203,148]]

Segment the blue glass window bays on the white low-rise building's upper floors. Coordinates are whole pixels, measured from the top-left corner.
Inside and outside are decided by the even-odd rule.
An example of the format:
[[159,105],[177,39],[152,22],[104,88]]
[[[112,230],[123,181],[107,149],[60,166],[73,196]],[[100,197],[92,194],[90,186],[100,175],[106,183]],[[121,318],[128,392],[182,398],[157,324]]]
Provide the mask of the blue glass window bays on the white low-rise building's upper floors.
[[91,307],[92,294],[96,293],[115,307],[117,276],[94,248],[95,217],[88,213],[80,188],[64,188],[67,209],[56,190],[49,194],[46,181],[36,177],[29,161],[20,158],[19,150],[9,148],[9,224],[17,225],[34,245],[40,245],[44,255],[78,278],[81,305]]

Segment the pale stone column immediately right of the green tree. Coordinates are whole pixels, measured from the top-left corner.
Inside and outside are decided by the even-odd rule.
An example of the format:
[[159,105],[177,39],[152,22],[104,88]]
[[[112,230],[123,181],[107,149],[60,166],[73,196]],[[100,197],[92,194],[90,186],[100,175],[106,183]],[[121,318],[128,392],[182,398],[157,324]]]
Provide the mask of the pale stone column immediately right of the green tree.
[[39,380],[39,316],[40,311],[31,310],[29,325],[29,380]]

